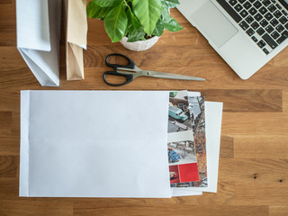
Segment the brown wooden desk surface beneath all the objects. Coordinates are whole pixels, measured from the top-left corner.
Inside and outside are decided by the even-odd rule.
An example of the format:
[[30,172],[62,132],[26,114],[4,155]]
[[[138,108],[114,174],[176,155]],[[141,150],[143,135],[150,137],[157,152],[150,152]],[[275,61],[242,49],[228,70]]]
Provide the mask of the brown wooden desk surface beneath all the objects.
[[[103,22],[89,20],[85,80],[66,81],[64,43],[60,87],[41,87],[16,49],[15,0],[0,2],[0,215],[288,215],[288,49],[241,80],[176,10],[183,31],[166,31],[144,52],[112,44]],[[130,56],[145,69],[201,76],[206,82],[139,77],[130,85],[103,83],[104,57]],[[224,103],[218,193],[172,199],[23,198],[18,196],[20,90],[201,91]]]

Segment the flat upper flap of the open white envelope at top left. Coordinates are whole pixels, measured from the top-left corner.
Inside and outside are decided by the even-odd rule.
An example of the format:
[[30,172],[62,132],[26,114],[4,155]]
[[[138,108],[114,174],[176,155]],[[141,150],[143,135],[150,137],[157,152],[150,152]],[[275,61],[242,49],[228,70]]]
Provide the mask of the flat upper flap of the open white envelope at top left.
[[48,0],[17,0],[17,47],[49,51]]

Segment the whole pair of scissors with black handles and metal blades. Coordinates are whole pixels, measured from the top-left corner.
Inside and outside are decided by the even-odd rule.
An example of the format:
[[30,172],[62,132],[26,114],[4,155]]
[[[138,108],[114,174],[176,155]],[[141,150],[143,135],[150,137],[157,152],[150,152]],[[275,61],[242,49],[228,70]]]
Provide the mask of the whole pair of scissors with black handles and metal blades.
[[[128,60],[127,65],[118,65],[118,64],[111,64],[109,63],[109,58],[112,56],[119,56],[122,58],[125,58]],[[113,86],[121,86],[121,85],[127,85],[131,81],[134,80],[134,78],[138,76],[150,76],[150,77],[157,77],[157,78],[168,78],[168,79],[183,79],[183,80],[195,80],[195,81],[205,81],[204,78],[194,77],[194,76],[184,76],[184,75],[177,75],[172,73],[164,73],[164,72],[157,72],[157,71],[151,71],[151,70],[142,70],[139,67],[135,65],[135,63],[128,58],[127,56],[124,56],[119,53],[112,53],[109,54],[105,58],[105,64],[108,67],[114,68],[113,71],[106,71],[103,73],[103,81],[108,85]],[[106,80],[106,76],[123,76],[126,78],[126,80],[121,84],[112,84]]]

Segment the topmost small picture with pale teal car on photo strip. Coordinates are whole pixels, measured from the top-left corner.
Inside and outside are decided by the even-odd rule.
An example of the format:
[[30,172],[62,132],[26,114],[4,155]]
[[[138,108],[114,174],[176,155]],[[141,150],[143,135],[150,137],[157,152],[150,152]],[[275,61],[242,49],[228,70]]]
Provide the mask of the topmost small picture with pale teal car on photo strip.
[[168,133],[192,129],[187,92],[170,92]]

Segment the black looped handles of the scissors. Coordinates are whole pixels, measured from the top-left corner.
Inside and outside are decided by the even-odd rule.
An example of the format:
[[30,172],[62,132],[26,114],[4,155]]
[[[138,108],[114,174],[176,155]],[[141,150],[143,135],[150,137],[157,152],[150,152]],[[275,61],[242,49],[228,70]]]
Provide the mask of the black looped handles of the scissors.
[[[121,58],[125,58],[128,60],[128,64],[127,65],[118,65],[118,64],[111,64],[109,63],[109,58],[112,57],[112,56],[119,56]],[[118,67],[121,67],[121,68],[130,68],[130,69],[134,69],[135,68],[135,63],[130,59],[128,58],[127,56],[124,56],[122,54],[119,54],[119,53],[112,53],[112,54],[109,54],[106,58],[105,58],[105,64],[106,66],[108,67],[112,67],[114,68],[114,71],[106,71],[105,73],[103,73],[103,80],[106,84],[108,85],[112,85],[112,86],[121,86],[121,85],[126,85],[126,84],[129,84],[131,81],[133,81],[134,79],[134,76],[133,75],[130,75],[130,74],[122,74],[120,71],[117,71],[117,68]],[[123,83],[121,84],[112,84],[112,83],[109,83],[107,80],[106,80],[106,76],[107,75],[110,75],[110,76],[123,76],[126,78],[126,81],[124,81]]]

